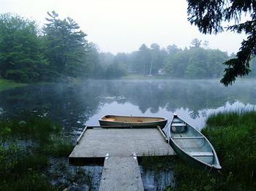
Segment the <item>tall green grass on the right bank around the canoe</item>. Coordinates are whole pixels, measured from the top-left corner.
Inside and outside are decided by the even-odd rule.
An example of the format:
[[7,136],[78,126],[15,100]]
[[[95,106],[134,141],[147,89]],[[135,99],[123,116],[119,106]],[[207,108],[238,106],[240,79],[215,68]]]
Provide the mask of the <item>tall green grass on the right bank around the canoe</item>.
[[256,112],[220,113],[202,133],[216,149],[222,170],[200,171],[177,160],[178,190],[253,190],[256,187]]

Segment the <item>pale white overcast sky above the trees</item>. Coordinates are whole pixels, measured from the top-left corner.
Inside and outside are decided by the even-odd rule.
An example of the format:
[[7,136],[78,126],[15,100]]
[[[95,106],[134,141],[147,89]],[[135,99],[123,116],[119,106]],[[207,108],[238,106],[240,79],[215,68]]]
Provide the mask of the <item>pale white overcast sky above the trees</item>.
[[132,52],[141,44],[189,47],[192,39],[209,47],[237,52],[245,35],[203,35],[187,21],[186,0],[0,0],[0,12],[15,12],[45,23],[47,12],[72,17],[104,52]]

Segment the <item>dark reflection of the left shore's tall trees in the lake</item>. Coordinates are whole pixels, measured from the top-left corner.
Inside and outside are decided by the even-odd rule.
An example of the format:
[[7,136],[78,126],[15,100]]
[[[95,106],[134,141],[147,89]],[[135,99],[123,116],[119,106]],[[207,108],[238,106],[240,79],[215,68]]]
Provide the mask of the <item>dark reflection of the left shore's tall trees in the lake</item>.
[[74,87],[63,84],[21,87],[1,92],[0,104],[6,116],[15,117],[22,110],[37,111],[73,128],[79,126],[78,120],[86,122],[97,111],[99,99],[92,88],[90,83]]

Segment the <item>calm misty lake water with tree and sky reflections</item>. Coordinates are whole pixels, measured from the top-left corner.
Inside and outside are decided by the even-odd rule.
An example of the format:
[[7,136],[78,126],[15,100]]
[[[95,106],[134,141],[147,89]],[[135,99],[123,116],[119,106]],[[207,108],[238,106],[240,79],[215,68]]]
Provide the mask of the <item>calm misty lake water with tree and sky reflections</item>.
[[[223,87],[212,80],[88,80],[80,85],[31,85],[0,92],[0,116],[34,111],[60,122],[77,139],[84,125],[99,125],[105,114],[159,116],[178,114],[197,129],[215,112],[256,109],[256,81]],[[98,169],[98,170],[95,170]],[[95,167],[95,184],[102,168]],[[170,184],[172,173],[148,171],[143,182],[160,188]]]

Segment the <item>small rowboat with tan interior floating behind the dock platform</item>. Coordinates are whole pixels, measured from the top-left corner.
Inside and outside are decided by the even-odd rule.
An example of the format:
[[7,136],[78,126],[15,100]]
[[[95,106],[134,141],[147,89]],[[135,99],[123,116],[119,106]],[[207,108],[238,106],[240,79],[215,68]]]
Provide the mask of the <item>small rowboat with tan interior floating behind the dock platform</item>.
[[162,117],[130,117],[118,115],[105,115],[99,119],[101,126],[129,126],[132,128],[165,128],[167,120]]

